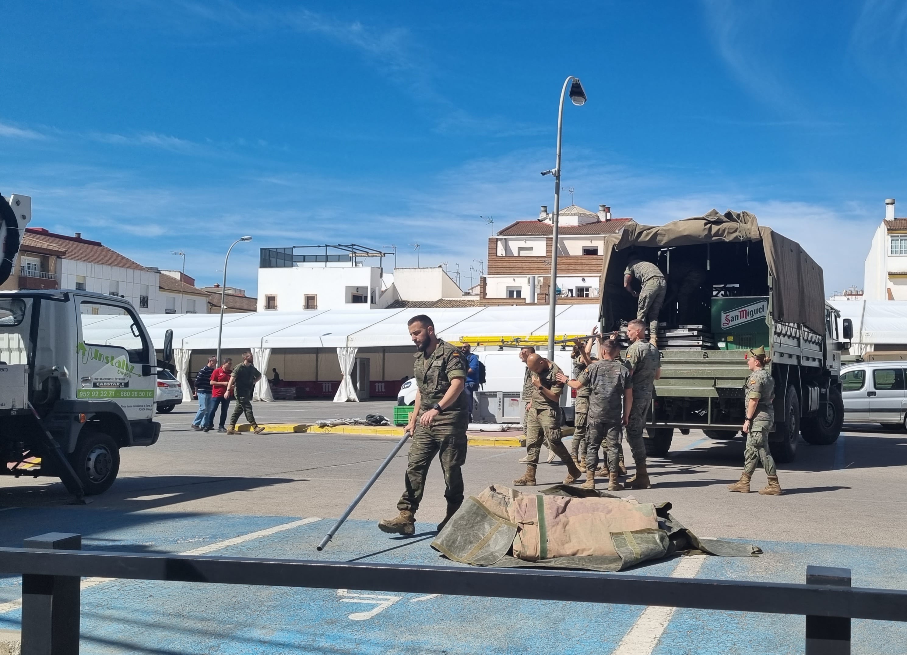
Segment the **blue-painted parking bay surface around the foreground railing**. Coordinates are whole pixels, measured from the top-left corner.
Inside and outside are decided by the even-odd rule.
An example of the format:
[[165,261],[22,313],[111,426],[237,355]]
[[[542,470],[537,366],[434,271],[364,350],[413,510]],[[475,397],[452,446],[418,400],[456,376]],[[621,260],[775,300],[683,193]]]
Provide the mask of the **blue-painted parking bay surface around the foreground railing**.
[[[323,552],[315,546],[329,521],[133,512],[142,516],[73,518],[69,509],[29,511],[28,534],[79,531],[85,548],[183,552],[231,541],[212,554],[333,561],[446,564],[429,548],[433,524],[414,538],[389,537],[375,521],[347,521]],[[76,514],[80,512],[75,511]],[[87,512],[81,516],[89,517]],[[5,517],[6,519],[7,517]],[[4,521],[10,522],[10,521]],[[18,521],[16,521],[18,522]],[[19,528],[16,528],[17,530]],[[243,541],[243,535],[263,532]],[[3,545],[21,539],[0,538]],[[112,546],[112,544],[115,544]],[[188,545],[187,545],[188,544]],[[759,558],[705,558],[699,578],[803,581],[807,564],[853,570],[854,586],[903,588],[907,550],[829,544],[761,542]],[[627,575],[670,575],[681,562],[658,561]],[[701,567],[701,568],[700,568]],[[15,579],[0,589],[18,592]],[[0,600],[2,601],[2,600]],[[502,600],[381,593],[109,581],[83,590],[82,652],[112,653],[612,653],[644,608],[590,603]],[[20,611],[0,613],[0,628],[17,628]],[[667,653],[802,652],[804,620],[769,614],[675,610],[650,647]],[[854,621],[854,653],[900,653],[907,626]],[[622,650],[627,651],[627,650]],[[649,652],[636,651],[636,652]]]

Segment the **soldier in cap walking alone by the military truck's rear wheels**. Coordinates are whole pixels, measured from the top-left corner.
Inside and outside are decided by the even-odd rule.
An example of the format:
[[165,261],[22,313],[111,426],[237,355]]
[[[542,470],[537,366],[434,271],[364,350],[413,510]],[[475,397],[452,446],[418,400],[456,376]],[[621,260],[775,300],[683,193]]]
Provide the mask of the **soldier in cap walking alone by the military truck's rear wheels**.
[[778,484],[778,471],[775,470],[775,459],[768,451],[768,433],[775,427],[775,380],[771,373],[766,371],[766,356],[764,346],[748,352],[746,364],[751,371],[744,382],[746,394],[746,421],[743,423],[743,433],[746,434],[746,447],[743,452],[743,474],[736,484],[727,485],[728,491],[749,493],[749,480],[756,471],[756,463],[762,461],[762,468],[766,470],[768,484],[759,491],[764,496],[780,496],[781,485]]

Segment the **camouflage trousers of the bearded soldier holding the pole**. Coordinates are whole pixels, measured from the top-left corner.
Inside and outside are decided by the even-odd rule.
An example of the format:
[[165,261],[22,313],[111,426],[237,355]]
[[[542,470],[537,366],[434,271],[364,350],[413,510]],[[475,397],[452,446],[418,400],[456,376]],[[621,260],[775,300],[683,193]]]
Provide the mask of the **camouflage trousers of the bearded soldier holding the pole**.
[[438,454],[444,471],[444,498],[448,506],[463,504],[463,471],[466,463],[466,423],[424,427],[416,423],[413,441],[409,444],[409,464],[406,466],[405,491],[397,509],[416,511],[425,492],[425,477]]

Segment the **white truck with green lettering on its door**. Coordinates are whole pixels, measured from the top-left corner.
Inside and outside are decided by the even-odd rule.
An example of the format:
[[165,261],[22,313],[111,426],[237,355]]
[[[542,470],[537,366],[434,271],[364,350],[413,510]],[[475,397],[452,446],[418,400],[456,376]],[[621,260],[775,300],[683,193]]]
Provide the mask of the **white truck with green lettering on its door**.
[[[27,196],[0,196],[0,283],[30,213]],[[164,362],[171,353],[168,332]],[[122,298],[0,292],[0,473],[59,477],[79,498],[109,489],[121,448],[158,441],[158,364],[139,314]]]

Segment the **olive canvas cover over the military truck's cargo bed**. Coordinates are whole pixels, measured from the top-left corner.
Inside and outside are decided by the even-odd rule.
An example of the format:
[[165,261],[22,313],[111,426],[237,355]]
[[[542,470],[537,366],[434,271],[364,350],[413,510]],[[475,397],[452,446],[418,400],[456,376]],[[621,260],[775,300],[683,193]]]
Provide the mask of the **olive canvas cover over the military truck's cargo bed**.
[[[770,227],[759,225],[752,213],[727,211],[722,214],[713,209],[703,216],[664,225],[640,225],[629,221],[619,233],[605,236],[604,241],[602,282],[608,274],[611,254],[630,246],[668,248],[697,243],[762,242],[774,285],[772,311],[775,320],[802,323],[814,332],[825,333],[822,267],[799,243]],[[604,303],[601,308],[603,315],[606,311]],[[610,321],[610,317],[604,318]]]

